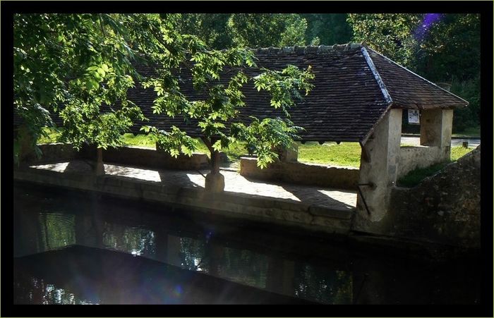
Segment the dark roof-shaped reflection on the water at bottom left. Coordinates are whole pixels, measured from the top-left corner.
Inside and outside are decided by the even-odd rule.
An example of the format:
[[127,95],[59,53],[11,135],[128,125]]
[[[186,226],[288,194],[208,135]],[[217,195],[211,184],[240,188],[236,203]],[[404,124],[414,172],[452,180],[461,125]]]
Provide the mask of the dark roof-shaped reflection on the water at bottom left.
[[[20,257],[14,274],[14,293],[22,295],[16,303],[310,303],[145,257],[80,245]],[[43,279],[23,281],[30,276]],[[34,293],[37,298],[30,296]]]

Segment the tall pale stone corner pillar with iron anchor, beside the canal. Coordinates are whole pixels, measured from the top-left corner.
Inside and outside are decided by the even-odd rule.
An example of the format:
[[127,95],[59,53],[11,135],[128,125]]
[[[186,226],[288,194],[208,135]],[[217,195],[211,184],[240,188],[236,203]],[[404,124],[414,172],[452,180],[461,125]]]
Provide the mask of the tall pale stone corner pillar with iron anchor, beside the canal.
[[373,134],[363,145],[359,183],[372,183],[373,186],[361,186],[370,214],[359,194],[353,224],[356,231],[386,231],[387,225],[383,219],[388,211],[391,189],[397,181],[401,137],[402,110],[391,109],[375,126]]

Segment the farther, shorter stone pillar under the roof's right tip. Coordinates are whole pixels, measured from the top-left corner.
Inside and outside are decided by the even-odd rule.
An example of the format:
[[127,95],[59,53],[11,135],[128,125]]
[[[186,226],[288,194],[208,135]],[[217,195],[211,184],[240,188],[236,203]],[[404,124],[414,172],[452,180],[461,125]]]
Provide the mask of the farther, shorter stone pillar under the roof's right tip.
[[442,161],[450,159],[452,109],[426,109],[421,111],[420,144],[439,147]]

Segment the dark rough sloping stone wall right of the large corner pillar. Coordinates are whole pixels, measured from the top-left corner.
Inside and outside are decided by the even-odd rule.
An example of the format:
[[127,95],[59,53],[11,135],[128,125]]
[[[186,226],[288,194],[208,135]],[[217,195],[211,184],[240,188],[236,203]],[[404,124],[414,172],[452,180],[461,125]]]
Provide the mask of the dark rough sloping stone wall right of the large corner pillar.
[[387,224],[393,236],[480,247],[481,147],[414,188],[394,188]]

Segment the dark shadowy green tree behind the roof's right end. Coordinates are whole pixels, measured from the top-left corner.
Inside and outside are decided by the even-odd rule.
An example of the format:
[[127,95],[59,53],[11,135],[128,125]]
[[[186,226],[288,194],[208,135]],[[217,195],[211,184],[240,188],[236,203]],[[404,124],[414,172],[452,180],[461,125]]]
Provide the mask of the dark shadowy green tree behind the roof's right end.
[[453,130],[480,125],[481,20],[478,14],[442,14],[421,42],[418,72],[436,82],[449,82],[451,92],[469,106],[454,109]]

